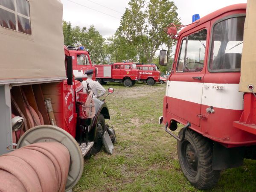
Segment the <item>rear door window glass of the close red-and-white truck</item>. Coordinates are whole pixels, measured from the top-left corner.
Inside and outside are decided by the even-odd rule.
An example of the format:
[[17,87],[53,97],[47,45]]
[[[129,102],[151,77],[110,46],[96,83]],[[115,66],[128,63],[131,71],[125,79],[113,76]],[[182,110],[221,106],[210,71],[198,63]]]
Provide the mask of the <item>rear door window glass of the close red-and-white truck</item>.
[[240,71],[245,17],[216,23],[212,31],[209,71]]

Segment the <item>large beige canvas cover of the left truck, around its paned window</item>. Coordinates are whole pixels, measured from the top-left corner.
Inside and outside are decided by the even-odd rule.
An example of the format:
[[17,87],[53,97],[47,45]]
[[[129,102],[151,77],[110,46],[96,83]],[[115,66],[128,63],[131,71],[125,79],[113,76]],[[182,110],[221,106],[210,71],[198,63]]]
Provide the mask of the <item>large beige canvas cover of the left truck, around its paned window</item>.
[[[18,26],[16,30],[3,27],[8,26],[8,23],[2,22],[0,26],[0,83],[17,79],[61,79],[66,76],[61,1],[28,2],[30,14],[22,12],[25,15],[21,15],[17,8],[12,11],[3,6],[1,9],[0,6],[2,13],[7,10],[10,14],[16,14]],[[29,17],[30,28],[28,23],[19,21],[20,18],[28,21]],[[20,30],[27,30],[31,35]]]

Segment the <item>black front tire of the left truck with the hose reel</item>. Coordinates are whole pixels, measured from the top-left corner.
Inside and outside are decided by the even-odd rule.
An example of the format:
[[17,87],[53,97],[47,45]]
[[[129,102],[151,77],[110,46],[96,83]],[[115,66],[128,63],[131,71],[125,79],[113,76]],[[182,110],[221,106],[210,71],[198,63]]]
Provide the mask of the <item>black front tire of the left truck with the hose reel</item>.
[[107,128],[106,128],[104,116],[100,113],[96,123],[96,128],[95,128],[96,133],[93,140],[94,144],[92,147],[91,154],[96,154],[101,150],[103,145],[102,136],[106,130]]

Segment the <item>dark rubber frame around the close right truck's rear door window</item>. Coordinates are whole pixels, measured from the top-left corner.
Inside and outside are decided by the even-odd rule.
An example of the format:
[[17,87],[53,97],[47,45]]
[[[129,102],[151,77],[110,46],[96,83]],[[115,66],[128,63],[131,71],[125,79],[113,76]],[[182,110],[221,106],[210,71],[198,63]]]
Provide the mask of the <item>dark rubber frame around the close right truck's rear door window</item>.
[[215,25],[224,21],[224,20],[232,19],[232,18],[235,18],[235,17],[245,17],[245,15],[246,15],[245,13],[233,14],[233,15],[229,15],[227,17],[223,17],[219,20],[216,20],[215,23],[213,23],[211,31],[210,31],[211,34],[210,34],[209,50],[208,50],[208,58],[207,58],[207,70],[209,71],[209,73],[240,73],[241,68],[240,68],[240,70],[227,70],[227,69],[211,70],[210,69],[210,57],[211,57],[211,52],[212,52],[213,29],[214,29]]

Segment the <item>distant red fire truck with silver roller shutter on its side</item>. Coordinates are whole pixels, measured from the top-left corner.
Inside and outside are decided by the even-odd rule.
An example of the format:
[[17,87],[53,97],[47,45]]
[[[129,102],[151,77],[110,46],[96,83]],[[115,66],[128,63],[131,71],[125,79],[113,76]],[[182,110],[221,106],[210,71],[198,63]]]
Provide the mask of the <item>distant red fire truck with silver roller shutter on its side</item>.
[[131,87],[135,81],[140,80],[139,70],[132,62],[114,63],[109,65],[95,65],[97,76],[96,80],[100,84],[107,82],[123,83],[125,87]]

